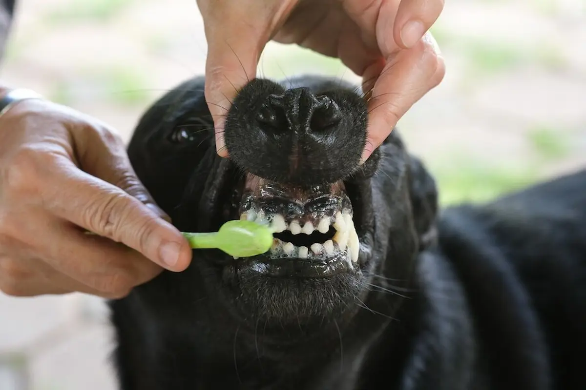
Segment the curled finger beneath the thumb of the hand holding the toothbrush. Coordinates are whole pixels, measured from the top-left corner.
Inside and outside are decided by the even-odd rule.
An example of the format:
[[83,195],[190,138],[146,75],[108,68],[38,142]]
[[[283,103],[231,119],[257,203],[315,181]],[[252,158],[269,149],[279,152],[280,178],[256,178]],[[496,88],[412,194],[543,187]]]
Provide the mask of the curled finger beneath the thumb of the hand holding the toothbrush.
[[34,269],[47,275],[46,281],[54,285],[101,296],[125,295],[162,270],[137,251],[85,234],[63,220],[50,215],[38,215],[36,219],[38,223],[22,229],[25,234],[19,239],[32,257],[50,267],[38,264]]

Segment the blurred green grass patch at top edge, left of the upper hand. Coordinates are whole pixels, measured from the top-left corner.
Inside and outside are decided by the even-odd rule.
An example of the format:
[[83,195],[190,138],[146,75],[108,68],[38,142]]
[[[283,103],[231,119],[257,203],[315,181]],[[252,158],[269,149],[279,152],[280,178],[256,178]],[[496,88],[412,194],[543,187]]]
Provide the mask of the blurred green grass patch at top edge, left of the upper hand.
[[110,22],[135,0],[73,0],[47,13],[45,20],[50,25],[84,22]]

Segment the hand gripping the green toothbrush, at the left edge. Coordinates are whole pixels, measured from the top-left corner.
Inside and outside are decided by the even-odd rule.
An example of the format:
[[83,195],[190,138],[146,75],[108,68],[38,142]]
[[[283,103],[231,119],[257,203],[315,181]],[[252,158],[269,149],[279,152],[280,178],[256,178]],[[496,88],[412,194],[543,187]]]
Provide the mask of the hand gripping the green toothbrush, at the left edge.
[[0,116],[0,291],[121,298],[184,270],[189,243],[164,218],[103,123],[37,99]]

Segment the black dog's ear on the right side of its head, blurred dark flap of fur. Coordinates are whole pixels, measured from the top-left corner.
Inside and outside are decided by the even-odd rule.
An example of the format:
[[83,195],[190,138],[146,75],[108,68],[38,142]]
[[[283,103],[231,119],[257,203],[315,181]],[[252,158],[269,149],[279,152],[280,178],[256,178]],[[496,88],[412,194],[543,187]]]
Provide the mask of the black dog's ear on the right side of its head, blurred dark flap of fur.
[[420,250],[424,250],[437,239],[435,218],[438,210],[438,191],[434,178],[423,162],[409,156],[409,189],[415,219],[415,229],[419,237]]

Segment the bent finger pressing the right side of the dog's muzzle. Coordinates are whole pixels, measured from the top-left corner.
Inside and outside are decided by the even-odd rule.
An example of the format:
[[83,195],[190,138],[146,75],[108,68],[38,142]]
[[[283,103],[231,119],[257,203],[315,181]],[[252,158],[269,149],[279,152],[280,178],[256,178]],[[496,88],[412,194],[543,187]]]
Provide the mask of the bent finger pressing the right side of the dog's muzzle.
[[[377,71],[379,67],[372,69]],[[369,71],[364,78],[376,77]],[[420,40],[413,49],[387,58],[368,102],[368,135],[362,162],[383,143],[407,110],[441,82],[444,74],[444,60],[428,40]]]

